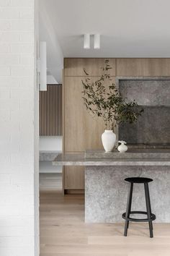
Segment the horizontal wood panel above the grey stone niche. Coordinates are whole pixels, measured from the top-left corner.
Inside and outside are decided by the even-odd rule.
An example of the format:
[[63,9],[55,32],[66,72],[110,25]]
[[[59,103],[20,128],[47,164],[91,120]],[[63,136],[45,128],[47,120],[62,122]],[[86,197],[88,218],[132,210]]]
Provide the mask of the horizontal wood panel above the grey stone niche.
[[169,76],[170,59],[117,59],[117,76]]

